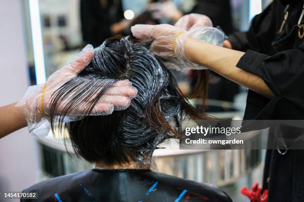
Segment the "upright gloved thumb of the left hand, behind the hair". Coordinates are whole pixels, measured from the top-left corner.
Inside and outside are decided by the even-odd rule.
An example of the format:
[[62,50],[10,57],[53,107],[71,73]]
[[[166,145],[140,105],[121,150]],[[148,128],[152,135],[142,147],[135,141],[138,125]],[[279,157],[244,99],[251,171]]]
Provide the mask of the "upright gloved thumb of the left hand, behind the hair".
[[65,68],[78,74],[91,62],[93,54],[93,46],[88,44],[79,52],[76,59]]

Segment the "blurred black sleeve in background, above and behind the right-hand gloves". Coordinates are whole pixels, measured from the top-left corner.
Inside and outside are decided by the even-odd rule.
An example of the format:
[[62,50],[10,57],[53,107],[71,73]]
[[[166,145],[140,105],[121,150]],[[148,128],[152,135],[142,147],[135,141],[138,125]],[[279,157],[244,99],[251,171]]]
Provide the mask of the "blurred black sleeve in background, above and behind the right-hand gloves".
[[207,15],[227,35],[233,32],[230,0],[198,0],[190,13]]

